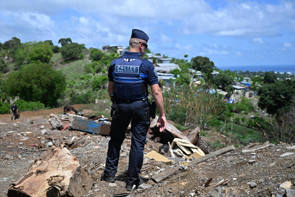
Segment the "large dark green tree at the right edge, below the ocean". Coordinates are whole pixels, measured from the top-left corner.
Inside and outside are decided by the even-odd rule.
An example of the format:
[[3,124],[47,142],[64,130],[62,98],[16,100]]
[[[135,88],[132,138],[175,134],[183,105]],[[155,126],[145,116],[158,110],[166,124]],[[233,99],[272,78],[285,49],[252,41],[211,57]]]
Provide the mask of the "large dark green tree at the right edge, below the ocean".
[[295,97],[295,81],[277,81],[265,84],[259,88],[258,106],[269,114],[276,114],[281,108],[288,108],[293,104]]

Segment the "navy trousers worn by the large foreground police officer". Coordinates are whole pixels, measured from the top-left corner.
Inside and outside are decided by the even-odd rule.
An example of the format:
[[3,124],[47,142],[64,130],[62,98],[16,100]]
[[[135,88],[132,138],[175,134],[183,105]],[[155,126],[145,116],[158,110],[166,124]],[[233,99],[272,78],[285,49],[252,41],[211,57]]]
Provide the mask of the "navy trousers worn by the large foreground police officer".
[[138,185],[139,174],[144,158],[144,143],[150,126],[150,119],[143,120],[148,108],[148,99],[138,101],[119,101],[119,116],[112,119],[110,137],[108,142],[108,155],[105,163],[104,174],[115,177],[121,145],[125,138],[125,132],[131,121],[131,147],[129,153],[129,166],[127,185]]

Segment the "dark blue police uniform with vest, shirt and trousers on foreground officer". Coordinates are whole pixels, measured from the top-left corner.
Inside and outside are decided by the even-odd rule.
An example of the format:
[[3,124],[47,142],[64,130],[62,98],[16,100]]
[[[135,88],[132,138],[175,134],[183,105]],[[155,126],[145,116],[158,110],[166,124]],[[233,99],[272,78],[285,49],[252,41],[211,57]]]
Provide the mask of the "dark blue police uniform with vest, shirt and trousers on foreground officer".
[[108,70],[108,79],[115,83],[119,116],[112,119],[108,155],[104,174],[115,177],[125,132],[131,121],[131,148],[127,185],[138,185],[143,163],[144,143],[150,126],[145,118],[148,110],[148,85],[158,82],[157,72],[151,62],[140,58],[136,52],[125,52],[115,59]]

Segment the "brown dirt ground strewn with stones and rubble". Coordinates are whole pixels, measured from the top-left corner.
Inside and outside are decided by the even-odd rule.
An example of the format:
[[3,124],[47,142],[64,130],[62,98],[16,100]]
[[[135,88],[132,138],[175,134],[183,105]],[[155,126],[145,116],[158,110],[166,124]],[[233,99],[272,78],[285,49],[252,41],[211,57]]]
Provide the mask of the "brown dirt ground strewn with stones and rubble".
[[[74,106],[74,108],[85,106]],[[54,146],[63,142],[74,143],[69,147],[73,155],[76,155],[92,177],[94,184],[92,190],[85,196],[112,196],[116,193],[127,192],[126,170],[128,169],[128,156],[131,136],[127,135],[121,148],[118,172],[115,183],[100,181],[103,172],[108,136],[93,135],[82,131],[51,130],[47,122],[50,113],[61,114],[63,109],[22,112],[21,118],[10,120],[10,115],[0,115],[0,196],[6,196],[11,183],[15,183],[24,175],[29,165],[37,158],[45,154],[50,147],[38,149],[35,145],[46,145],[51,141]],[[89,109],[88,113],[92,113]],[[47,133],[41,135],[41,126]],[[26,133],[32,132],[32,133]],[[145,152],[159,151],[160,143],[155,143],[148,135]],[[144,158],[141,177],[144,179],[144,187],[132,192],[130,196],[191,196],[195,189],[201,186],[207,179],[212,178],[211,183],[218,183],[222,179],[229,181],[215,188],[211,185],[202,191],[195,192],[195,196],[284,196],[286,189],[280,187],[283,182],[291,183],[290,189],[295,189],[295,146],[293,144],[279,143],[270,145],[254,152],[242,153],[244,149],[254,149],[264,146],[257,144],[253,147],[240,147],[234,151],[207,160],[206,162],[190,166],[187,169],[177,171],[160,183],[154,183],[150,177],[161,168],[169,169],[179,165],[182,158],[173,159],[172,166]],[[34,150],[24,152],[26,150]],[[286,154],[287,153],[287,154]],[[172,160],[171,157],[168,157]],[[254,160],[254,161],[249,161]],[[148,168],[148,169],[147,169]],[[149,188],[148,188],[149,187]],[[130,197],[129,196],[129,197]]]

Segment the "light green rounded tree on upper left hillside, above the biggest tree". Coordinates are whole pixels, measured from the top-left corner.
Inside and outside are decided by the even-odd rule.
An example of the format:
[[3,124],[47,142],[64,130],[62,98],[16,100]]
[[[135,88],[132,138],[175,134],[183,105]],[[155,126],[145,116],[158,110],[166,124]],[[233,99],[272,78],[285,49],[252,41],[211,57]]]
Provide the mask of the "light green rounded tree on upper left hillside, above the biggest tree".
[[29,62],[36,63],[38,61],[42,63],[49,63],[52,58],[53,52],[49,45],[41,44],[34,46],[29,52],[28,60]]

